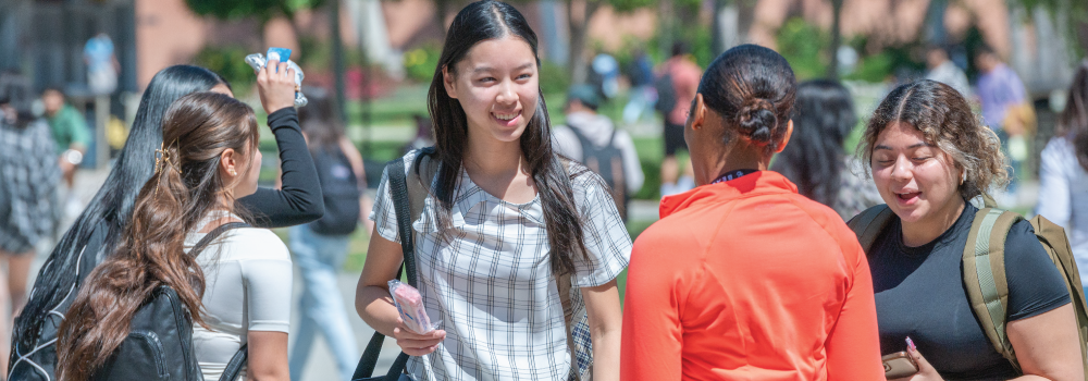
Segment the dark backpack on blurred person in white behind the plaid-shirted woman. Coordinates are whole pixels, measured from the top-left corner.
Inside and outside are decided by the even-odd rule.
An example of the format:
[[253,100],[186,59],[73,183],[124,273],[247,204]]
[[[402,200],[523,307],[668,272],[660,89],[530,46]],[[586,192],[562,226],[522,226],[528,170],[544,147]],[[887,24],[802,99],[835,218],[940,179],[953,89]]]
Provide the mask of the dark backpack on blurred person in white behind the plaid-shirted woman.
[[627,193],[627,172],[623,171],[623,152],[619,148],[616,148],[616,134],[618,134],[618,131],[613,128],[611,136],[608,137],[608,144],[598,147],[593,142],[590,142],[585,135],[582,135],[578,128],[573,126],[569,128],[574,133],[574,136],[578,136],[578,142],[582,144],[580,162],[589,168],[590,171],[601,175],[605,184],[608,184],[608,190],[611,193],[613,201],[616,202],[616,209],[619,210],[619,216],[623,219],[623,222],[627,222],[627,206],[631,201],[631,196]]

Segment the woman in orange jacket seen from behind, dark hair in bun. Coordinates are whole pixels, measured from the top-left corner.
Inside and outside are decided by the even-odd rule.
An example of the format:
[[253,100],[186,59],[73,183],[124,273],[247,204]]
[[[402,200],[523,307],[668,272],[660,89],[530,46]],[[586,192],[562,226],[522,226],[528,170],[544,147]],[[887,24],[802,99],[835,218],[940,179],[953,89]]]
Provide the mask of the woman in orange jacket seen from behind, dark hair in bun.
[[700,186],[634,243],[623,380],[882,380],[869,269],[828,207],[767,171],[796,79],[744,45],[707,69],[684,127]]

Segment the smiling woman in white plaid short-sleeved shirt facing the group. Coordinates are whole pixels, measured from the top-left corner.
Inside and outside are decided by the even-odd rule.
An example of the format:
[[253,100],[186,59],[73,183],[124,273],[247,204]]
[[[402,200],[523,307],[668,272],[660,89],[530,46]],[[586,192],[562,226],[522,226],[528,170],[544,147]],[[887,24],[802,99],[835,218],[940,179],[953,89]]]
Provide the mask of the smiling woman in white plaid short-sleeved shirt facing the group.
[[[552,150],[540,81],[536,35],[512,7],[484,0],[454,17],[429,93],[438,170],[421,179],[431,195],[412,221],[420,293],[442,320],[431,333],[408,331],[390,297],[404,257],[388,173],[379,186],[356,308],[422,356],[408,364],[420,380],[589,377],[571,365],[557,273],[581,291],[593,379],[619,379],[615,278],[630,237],[601,177]],[[418,155],[403,158],[408,181]]]

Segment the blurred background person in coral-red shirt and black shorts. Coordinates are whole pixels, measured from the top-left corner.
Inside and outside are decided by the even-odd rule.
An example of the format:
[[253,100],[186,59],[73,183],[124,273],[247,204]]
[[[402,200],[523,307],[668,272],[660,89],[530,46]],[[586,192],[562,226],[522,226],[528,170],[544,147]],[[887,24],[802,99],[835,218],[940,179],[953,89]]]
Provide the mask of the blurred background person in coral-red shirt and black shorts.
[[695,98],[698,77],[703,73],[703,70],[692,61],[688,52],[688,45],[676,42],[672,45],[671,52],[671,58],[658,67],[657,81],[654,85],[658,95],[657,110],[662,112],[665,120],[663,133],[665,158],[662,160],[663,197],[685,192],[695,186],[690,160],[684,165],[684,175],[680,176],[677,151],[688,150],[688,144],[683,139],[683,123],[688,118],[691,100]]

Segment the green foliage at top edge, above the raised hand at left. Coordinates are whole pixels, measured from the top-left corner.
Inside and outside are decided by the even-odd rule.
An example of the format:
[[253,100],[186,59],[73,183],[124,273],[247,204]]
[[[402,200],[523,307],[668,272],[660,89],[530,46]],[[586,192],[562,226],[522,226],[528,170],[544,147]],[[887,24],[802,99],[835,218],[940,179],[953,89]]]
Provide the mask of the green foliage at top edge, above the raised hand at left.
[[277,15],[292,17],[304,9],[321,7],[325,0],[185,0],[194,13],[222,20],[257,17],[262,23]]

